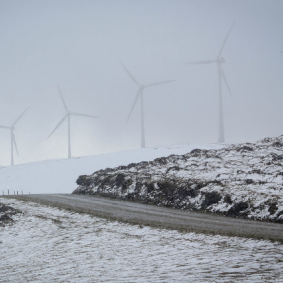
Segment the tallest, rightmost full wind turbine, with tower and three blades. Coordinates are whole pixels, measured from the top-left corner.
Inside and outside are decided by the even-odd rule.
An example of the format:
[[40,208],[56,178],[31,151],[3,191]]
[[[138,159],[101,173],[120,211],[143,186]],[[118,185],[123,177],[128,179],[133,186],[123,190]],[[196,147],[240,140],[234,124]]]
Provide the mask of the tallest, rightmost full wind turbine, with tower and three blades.
[[227,83],[226,80],[226,76],[224,74],[224,70],[221,66],[221,64],[225,63],[225,59],[223,57],[220,58],[222,51],[224,49],[224,45],[228,39],[228,36],[230,34],[230,31],[233,27],[234,23],[231,25],[226,38],[224,39],[224,42],[221,46],[221,49],[216,57],[216,59],[214,60],[205,60],[205,61],[196,61],[196,62],[190,62],[190,63],[185,63],[185,64],[211,64],[211,63],[216,63],[217,67],[218,67],[218,88],[219,88],[219,136],[218,136],[218,142],[219,143],[224,143],[224,121],[223,121],[223,104],[222,104],[222,79],[230,93],[230,95],[232,96],[230,87]]

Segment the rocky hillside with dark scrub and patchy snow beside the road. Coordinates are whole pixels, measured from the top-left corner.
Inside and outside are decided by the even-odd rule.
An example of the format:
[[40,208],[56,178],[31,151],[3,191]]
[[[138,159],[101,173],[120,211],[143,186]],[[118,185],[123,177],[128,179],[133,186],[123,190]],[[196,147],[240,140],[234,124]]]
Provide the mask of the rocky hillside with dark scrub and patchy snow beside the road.
[[283,135],[78,178],[74,194],[283,223]]

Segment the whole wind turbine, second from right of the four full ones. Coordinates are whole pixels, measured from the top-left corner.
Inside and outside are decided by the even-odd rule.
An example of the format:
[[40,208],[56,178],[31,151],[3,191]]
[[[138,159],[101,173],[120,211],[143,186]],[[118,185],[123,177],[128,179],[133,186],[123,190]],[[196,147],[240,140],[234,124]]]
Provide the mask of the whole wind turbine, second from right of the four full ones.
[[132,79],[132,81],[138,86],[138,92],[137,92],[136,97],[134,99],[134,103],[132,105],[132,108],[131,108],[130,114],[128,116],[127,122],[130,119],[130,116],[131,116],[131,114],[134,110],[134,107],[136,105],[136,102],[138,101],[138,98],[140,98],[140,121],[141,121],[140,147],[144,148],[145,147],[145,123],[144,123],[144,108],[143,108],[143,91],[147,87],[153,87],[155,85],[162,85],[162,84],[166,84],[166,83],[171,83],[171,82],[175,82],[176,80],[166,80],[166,81],[162,81],[162,82],[155,82],[155,83],[149,83],[149,84],[146,84],[146,85],[140,85],[138,83],[138,81],[134,78],[134,76],[126,69],[126,67],[123,65],[123,63],[120,62],[120,64],[122,65],[122,67],[124,68],[126,73],[129,75],[129,77]]

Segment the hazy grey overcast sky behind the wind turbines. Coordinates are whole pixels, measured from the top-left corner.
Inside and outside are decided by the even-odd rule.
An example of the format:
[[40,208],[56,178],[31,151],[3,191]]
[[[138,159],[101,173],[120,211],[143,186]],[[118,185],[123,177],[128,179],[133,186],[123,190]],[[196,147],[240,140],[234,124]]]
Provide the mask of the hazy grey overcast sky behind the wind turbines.
[[[137,86],[144,91],[147,147],[218,141],[216,64],[222,56],[225,141],[283,134],[283,1],[0,0],[0,125],[17,123],[15,164],[140,147],[140,107],[126,123]],[[10,133],[0,129],[0,165],[10,164]]]

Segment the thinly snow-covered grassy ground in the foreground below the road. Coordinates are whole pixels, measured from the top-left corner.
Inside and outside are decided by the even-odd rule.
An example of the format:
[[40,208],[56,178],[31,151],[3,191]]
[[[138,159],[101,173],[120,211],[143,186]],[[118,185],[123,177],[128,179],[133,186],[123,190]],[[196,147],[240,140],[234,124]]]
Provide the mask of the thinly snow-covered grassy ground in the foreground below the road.
[[0,198],[0,281],[282,282],[283,245],[179,233]]

